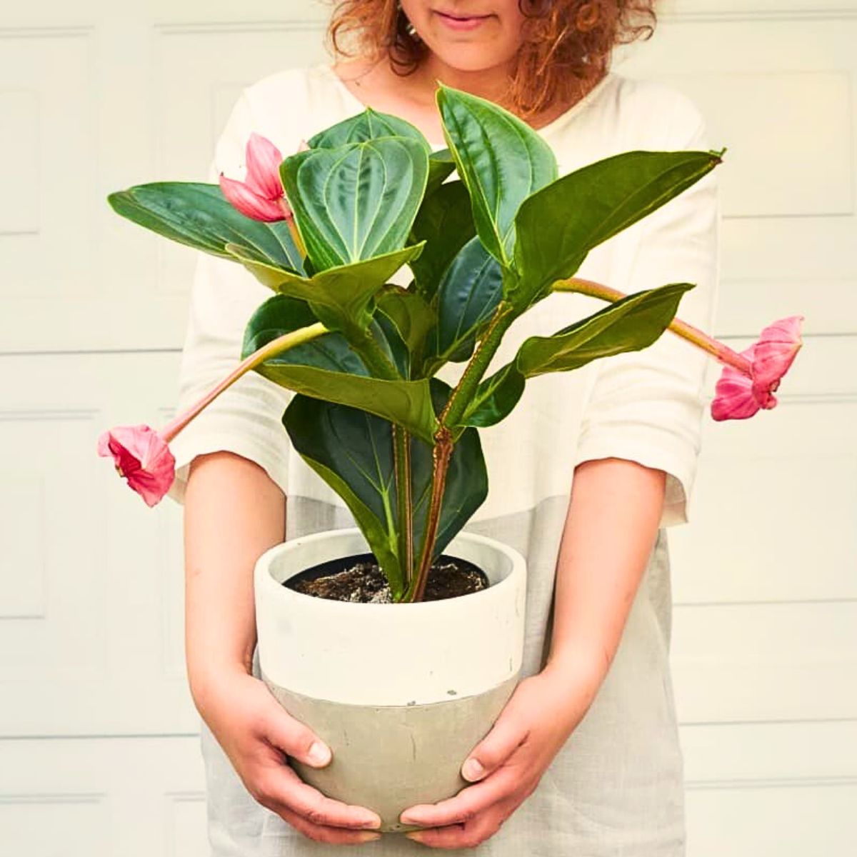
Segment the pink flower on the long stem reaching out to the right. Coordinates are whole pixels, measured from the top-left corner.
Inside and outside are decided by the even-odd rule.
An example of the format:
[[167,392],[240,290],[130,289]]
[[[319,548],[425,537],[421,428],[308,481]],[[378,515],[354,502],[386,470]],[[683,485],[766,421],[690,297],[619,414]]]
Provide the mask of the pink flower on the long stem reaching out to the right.
[[749,362],[749,373],[728,364],[723,367],[711,402],[711,417],[744,420],[776,405],[774,391],[803,345],[803,320],[802,315],[790,315],[765,327],[758,341],[740,352]]

